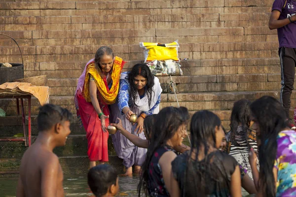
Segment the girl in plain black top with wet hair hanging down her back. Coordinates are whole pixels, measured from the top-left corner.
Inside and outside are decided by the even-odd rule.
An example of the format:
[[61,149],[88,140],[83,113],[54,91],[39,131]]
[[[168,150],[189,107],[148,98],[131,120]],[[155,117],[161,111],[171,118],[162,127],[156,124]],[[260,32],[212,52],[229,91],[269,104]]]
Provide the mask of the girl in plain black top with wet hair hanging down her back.
[[241,197],[240,169],[236,160],[219,151],[224,132],[219,117],[196,112],[190,124],[191,150],[172,162],[182,197]]

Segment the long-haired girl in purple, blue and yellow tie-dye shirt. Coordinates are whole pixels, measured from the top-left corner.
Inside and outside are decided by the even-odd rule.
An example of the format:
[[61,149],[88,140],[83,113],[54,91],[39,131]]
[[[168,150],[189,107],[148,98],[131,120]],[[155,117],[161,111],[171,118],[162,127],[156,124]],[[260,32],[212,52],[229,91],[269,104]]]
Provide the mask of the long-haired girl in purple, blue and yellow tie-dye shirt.
[[288,128],[281,103],[264,96],[251,104],[253,130],[259,147],[249,162],[258,194],[256,197],[296,197],[296,132]]

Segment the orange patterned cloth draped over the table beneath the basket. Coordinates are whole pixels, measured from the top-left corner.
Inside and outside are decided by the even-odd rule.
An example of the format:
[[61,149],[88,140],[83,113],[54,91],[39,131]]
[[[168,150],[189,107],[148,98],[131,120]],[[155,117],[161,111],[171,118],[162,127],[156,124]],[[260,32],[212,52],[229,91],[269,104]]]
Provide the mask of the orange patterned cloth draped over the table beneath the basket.
[[[21,83],[21,82],[7,82],[0,85],[0,93],[1,92],[9,92],[11,93],[20,93],[28,95],[32,94],[36,97],[40,104],[46,104],[49,102],[49,87],[48,86],[33,86],[31,83]],[[4,94],[4,93],[3,93]],[[6,93],[9,95],[9,93]]]

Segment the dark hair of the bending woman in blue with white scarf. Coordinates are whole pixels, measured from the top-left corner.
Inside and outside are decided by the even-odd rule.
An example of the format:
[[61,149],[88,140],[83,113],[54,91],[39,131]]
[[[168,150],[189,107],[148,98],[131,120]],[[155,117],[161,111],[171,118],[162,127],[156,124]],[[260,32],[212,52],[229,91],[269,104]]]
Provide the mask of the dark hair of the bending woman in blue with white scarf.
[[148,97],[148,104],[150,107],[152,92],[153,92],[152,87],[154,86],[154,77],[149,67],[146,64],[136,64],[128,74],[128,82],[131,90],[130,95],[134,100],[134,104],[135,104],[135,100],[137,99],[137,95],[138,95],[138,90],[137,90],[137,86],[134,83],[134,80],[135,80],[135,77],[138,75],[141,75],[147,79],[147,84],[144,88],[147,89],[146,94]]

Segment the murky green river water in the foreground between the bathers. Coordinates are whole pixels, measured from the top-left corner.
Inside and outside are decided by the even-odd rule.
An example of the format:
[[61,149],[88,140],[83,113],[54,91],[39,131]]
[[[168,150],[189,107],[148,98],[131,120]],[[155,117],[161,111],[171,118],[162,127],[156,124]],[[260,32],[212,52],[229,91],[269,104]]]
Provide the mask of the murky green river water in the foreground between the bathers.
[[[0,178],[0,197],[15,197],[17,177]],[[136,197],[138,177],[119,177],[118,197]],[[64,191],[66,197],[93,197],[87,185],[86,176],[67,174],[64,177]],[[248,193],[243,192],[243,196]]]

